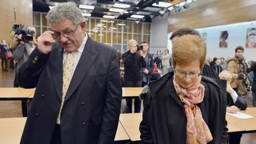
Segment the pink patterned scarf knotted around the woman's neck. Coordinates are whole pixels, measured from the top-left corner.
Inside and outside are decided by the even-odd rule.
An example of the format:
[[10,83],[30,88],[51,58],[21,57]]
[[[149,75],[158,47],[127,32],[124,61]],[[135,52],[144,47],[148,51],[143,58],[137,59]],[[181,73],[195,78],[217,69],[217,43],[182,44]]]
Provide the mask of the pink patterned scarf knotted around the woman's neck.
[[213,140],[209,127],[201,116],[200,108],[196,105],[204,98],[204,86],[200,82],[201,76],[191,88],[184,89],[178,85],[174,75],[174,88],[184,105],[187,117],[187,144],[207,143]]

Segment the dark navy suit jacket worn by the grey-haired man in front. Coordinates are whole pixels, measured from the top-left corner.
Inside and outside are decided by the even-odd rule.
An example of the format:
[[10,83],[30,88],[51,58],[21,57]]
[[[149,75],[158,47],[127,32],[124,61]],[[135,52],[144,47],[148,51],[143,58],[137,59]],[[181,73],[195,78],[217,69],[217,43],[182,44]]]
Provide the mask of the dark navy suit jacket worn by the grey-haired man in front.
[[[36,48],[21,66],[18,82],[36,93],[21,143],[50,143],[62,97],[63,49]],[[62,143],[114,143],[121,106],[117,50],[88,37],[62,108]]]

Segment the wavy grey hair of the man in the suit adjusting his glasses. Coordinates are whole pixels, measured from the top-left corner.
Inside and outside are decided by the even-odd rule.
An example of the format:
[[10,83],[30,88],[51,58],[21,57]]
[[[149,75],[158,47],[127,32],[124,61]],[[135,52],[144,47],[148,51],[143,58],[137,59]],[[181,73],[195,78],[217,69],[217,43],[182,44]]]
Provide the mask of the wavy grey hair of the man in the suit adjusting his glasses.
[[62,2],[55,5],[46,15],[48,23],[60,23],[65,20],[70,20],[74,24],[79,24],[84,21],[84,16],[75,2]]

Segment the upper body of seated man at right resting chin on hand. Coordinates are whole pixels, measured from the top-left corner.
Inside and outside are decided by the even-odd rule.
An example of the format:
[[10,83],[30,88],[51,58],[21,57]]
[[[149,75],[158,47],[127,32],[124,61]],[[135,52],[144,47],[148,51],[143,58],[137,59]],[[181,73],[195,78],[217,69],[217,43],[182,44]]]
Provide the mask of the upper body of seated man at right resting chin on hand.
[[227,108],[226,112],[236,113],[239,109],[245,110],[247,108],[247,103],[238,96],[236,91],[231,87],[232,75],[229,71],[222,71],[219,74],[220,79],[225,79],[227,81],[226,94],[227,94]]

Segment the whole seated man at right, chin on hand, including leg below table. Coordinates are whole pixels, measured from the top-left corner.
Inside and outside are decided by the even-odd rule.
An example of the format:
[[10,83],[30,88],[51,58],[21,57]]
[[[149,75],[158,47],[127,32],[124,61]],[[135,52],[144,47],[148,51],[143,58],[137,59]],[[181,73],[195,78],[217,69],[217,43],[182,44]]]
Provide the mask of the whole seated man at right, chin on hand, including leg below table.
[[[226,80],[226,94],[227,94],[227,108],[226,112],[236,113],[239,110],[245,110],[247,103],[239,97],[236,91],[231,87],[232,75],[229,71],[222,71],[219,73],[220,79]],[[241,141],[241,133],[231,133],[229,136],[229,143],[239,144]]]

